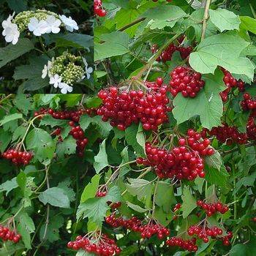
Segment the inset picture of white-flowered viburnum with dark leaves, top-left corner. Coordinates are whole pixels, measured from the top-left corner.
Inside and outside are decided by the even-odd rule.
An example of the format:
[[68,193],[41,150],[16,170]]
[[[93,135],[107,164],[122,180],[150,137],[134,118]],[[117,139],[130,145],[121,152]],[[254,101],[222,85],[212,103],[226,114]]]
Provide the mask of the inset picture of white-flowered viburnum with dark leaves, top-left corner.
[[92,85],[92,0],[2,1],[0,91],[81,93]]

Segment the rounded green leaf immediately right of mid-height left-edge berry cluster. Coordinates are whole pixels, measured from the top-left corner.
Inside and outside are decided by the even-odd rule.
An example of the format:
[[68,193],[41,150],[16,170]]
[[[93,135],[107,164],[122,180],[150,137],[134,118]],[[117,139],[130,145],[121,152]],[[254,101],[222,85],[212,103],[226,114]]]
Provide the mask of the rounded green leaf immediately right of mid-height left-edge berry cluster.
[[35,128],[26,136],[27,149],[33,149],[35,156],[42,162],[52,159],[56,149],[56,142],[43,129]]

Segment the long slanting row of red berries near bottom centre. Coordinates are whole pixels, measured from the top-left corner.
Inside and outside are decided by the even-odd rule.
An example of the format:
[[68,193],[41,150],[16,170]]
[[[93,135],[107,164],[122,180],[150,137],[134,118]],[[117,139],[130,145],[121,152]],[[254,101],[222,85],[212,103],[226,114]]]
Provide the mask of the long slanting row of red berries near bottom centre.
[[151,219],[148,223],[143,225],[137,217],[124,219],[123,217],[116,217],[112,214],[105,218],[105,222],[112,227],[125,227],[129,230],[139,232],[142,238],[150,238],[151,236],[154,236],[154,234],[157,234],[157,237],[162,239],[170,235],[170,231],[157,223],[154,219]]

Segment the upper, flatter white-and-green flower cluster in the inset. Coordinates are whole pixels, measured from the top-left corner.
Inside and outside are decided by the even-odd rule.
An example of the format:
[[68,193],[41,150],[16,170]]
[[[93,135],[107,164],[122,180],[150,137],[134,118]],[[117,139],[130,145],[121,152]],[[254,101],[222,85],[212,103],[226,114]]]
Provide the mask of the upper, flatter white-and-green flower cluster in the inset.
[[78,24],[70,16],[67,18],[65,15],[57,15],[47,10],[20,12],[15,18],[14,15],[10,15],[2,22],[2,35],[6,42],[12,42],[13,45],[18,42],[20,33],[26,29],[37,37],[48,33],[58,34],[61,26],[70,32],[78,30]]

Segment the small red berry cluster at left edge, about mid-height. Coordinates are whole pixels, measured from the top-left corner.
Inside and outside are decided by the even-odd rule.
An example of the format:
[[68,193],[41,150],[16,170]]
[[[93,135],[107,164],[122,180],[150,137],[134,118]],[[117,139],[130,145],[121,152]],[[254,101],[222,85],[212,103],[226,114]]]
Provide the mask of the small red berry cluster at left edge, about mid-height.
[[29,165],[33,154],[31,152],[10,148],[2,154],[2,157],[12,160],[15,165]]

